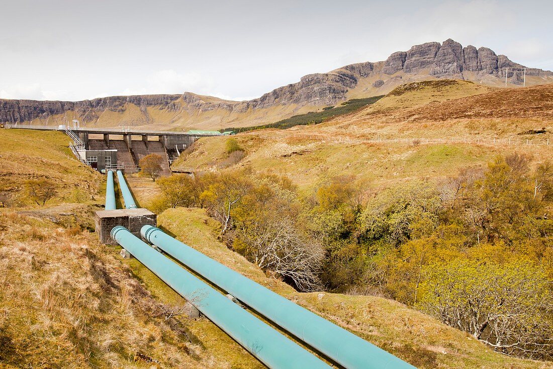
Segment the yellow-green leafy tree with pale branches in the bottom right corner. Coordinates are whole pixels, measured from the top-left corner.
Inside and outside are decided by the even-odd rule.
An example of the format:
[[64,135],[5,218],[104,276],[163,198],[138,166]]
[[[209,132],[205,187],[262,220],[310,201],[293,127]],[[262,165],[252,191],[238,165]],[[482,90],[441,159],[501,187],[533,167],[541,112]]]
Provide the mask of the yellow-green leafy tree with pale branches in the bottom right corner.
[[[488,247],[487,245],[480,248]],[[419,307],[508,355],[553,357],[553,294],[539,265],[504,249],[430,265]]]

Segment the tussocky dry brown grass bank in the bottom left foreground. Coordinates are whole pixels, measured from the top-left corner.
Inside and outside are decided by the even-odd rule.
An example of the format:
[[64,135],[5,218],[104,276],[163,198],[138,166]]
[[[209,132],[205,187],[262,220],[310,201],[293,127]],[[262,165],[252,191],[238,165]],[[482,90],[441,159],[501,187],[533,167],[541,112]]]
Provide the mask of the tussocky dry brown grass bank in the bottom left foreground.
[[[3,212],[0,366],[224,367],[95,235]],[[135,358],[140,360],[135,361]],[[215,362],[215,364],[213,363]]]

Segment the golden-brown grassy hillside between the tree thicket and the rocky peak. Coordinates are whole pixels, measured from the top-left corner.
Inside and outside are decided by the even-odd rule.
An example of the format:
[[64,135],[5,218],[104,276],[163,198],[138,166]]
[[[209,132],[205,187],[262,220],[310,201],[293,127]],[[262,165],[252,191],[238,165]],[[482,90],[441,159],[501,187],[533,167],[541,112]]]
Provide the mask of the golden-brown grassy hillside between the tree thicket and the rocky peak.
[[[499,153],[521,151],[539,160],[553,148],[545,145],[547,138],[553,144],[552,91],[552,85],[504,90],[466,81],[405,85],[319,125],[237,135],[246,151],[238,166],[280,173],[305,188],[337,175],[354,175],[379,188],[454,175]],[[542,127],[545,134],[525,134]],[[209,170],[228,156],[225,140],[201,139],[174,165]]]

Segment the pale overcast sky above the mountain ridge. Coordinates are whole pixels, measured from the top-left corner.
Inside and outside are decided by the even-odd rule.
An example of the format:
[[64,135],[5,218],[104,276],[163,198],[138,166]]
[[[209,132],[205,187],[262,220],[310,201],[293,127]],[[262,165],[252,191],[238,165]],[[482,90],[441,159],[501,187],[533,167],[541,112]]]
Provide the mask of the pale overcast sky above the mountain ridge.
[[0,0],[0,98],[244,100],[452,38],[553,70],[553,1]]

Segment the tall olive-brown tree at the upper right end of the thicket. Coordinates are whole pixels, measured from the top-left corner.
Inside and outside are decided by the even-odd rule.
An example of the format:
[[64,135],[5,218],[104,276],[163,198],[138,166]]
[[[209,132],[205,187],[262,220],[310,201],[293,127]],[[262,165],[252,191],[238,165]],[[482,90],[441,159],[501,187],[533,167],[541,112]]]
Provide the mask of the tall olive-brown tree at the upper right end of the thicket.
[[536,219],[547,218],[551,178],[547,162],[532,173],[526,156],[497,157],[481,178],[465,181],[450,218],[465,224],[473,243],[523,243]]

